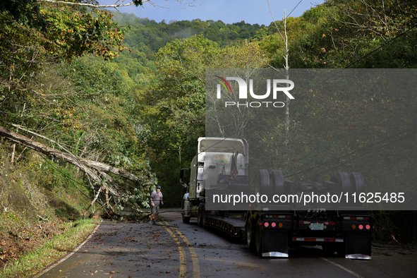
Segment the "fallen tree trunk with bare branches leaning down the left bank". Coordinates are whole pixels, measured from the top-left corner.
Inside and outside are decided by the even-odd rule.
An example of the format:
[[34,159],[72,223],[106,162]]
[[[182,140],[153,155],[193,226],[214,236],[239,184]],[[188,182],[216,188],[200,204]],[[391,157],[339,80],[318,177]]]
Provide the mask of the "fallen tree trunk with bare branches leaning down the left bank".
[[[8,123],[8,122],[5,122],[5,123]],[[28,132],[28,133],[32,133],[33,135],[37,135],[40,138],[44,138],[46,140],[51,141],[52,143],[55,143],[55,144],[59,145],[59,143],[56,143],[54,140],[46,138],[43,135],[34,133],[32,131],[28,131],[27,129],[23,128],[22,126],[18,126],[18,125],[13,124],[13,123],[8,123],[8,124],[11,125],[11,126],[14,126],[16,128],[19,128],[20,130],[23,130],[23,131]],[[78,167],[80,170],[84,171],[85,174],[87,174],[87,176],[90,179],[92,179],[92,181],[95,181],[95,183],[97,183],[97,185],[99,186],[97,194],[93,198],[92,203],[90,204],[90,206],[87,207],[87,210],[97,201],[97,199],[99,197],[99,194],[102,193],[102,192],[104,192],[104,194],[105,194],[107,207],[109,209],[111,209],[113,212],[114,212],[114,208],[111,207],[111,205],[109,203],[109,200],[111,198],[109,196],[109,193],[111,195],[113,195],[114,200],[116,200],[116,198],[118,198],[118,197],[120,198],[120,197],[126,196],[126,193],[119,186],[119,183],[114,181],[114,179],[111,175],[119,176],[123,179],[128,179],[128,181],[132,181],[133,183],[135,183],[135,185],[138,185],[138,186],[140,186],[140,184],[139,184],[140,181],[143,181],[142,178],[136,176],[135,174],[133,174],[129,171],[126,171],[125,169],[113,167],[113,166],[111,166],[109,164],[105,164],[103,162],[97,162],[97,161],[94,161],[94,160],[85,159],[85,158],[77,156],[77,155],[73,155],[73,153],[68,152],[61,145],[59,145],[59,147],[61,147],[61,149],[63,149],[63,150],[59,150],[59,149],[56,149],[54,147],[49,147],[47,145],[44,145],[43,143],[40,143],[40,142],[37,142],[37,141],[35,141],[31,138],[28,138],[25,135],[21,135],[19,133],[10,131],[8,128],[5,128],[4,126],[0,126],[0,136],[3,136],[4,138],[6,138],[8,140],[13,141],[14,143],[18,143],[18,144],[23,145],[25,147],[28,147],[32,150],[35,150],[36,152],[40,152],[42,155],[46,155],[47,157],[61,159],[64,162],[68,162],[70,164],[73,164],[76,167]],[[91,184],[91,186],[93,186],[93,185]],[[145,187],[149,187],[149,185],[145,186]],[[142,188],[142,189],[146,189],[146,188]],[[125,200],[128,203],[131,204],[133,209],[137,210],[138,212],[142,212],[140,210],[140,207],[136,203],[129,202],[128,198],[126,198]]]

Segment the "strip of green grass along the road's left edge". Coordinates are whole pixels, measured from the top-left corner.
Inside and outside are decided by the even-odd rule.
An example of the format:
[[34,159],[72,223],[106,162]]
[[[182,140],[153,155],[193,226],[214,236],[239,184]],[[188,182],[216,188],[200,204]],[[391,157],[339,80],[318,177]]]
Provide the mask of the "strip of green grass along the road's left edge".
[[0,271],[0,278],[31,277],[48,265],[71,252],[82,243],[99,224],[99,219],[79,219],[64,224],[63,234],[45,238],[40,248],[18,258]]

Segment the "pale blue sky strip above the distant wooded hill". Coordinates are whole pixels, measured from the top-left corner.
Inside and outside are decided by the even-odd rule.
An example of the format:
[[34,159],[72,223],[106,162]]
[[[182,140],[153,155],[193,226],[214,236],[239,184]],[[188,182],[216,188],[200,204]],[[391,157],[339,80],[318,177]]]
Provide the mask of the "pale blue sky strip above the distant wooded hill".
[[[99,4],[115,4],[117,0],[99,0]],[[121,2],[123,0],[119,0]],[[186,1],[186,0],[184,0]],[[192,1],[192,0],[191,0]],[[301,16],[312,6],[322,4],[325,0],[270,0],[270,7],[275,20],[282,20],[286,15]],[[125,0],[124,3],[131,2]],[[272,16],[267,0],[195,0],[194,6],[180,4],[175,0],[153,0],[159,6],[145,2],[143,7],[127,6],[118,8],[122,13],[134,13],[139,18],[149,18],[157,23],[165,20],[222,20],[223,23],[246,23],[270,25]],[[297,6],[298,5],[298,6]],[[163,8],[162,8],[163,7]],[[114,10],[114,9],[111,9]]]

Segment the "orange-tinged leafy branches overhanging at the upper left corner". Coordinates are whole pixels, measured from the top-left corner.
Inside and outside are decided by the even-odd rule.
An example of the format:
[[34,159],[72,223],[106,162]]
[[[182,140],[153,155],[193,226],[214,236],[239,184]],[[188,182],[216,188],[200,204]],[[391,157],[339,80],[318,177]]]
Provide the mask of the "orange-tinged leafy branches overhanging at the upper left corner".
[[[112,59],[126,49],[121,44],[126,28],[114,23],[106,11],[87,12],[58,4],[39,7],[33,1],[10,8],[12,12],[0,10],[0,77],[8,79],[8,86],[36,72],[46,61],[68,61],[84,54]],[[38,28],[43,21],[43,28]]]

